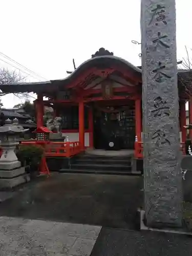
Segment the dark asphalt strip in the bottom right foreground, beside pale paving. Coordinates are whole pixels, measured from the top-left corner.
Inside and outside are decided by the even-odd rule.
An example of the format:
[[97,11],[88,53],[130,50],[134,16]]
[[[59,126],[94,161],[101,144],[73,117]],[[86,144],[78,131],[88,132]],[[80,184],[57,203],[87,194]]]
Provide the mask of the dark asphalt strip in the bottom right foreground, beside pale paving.
[[191,237],[102,228],[91,256],[191,256]]

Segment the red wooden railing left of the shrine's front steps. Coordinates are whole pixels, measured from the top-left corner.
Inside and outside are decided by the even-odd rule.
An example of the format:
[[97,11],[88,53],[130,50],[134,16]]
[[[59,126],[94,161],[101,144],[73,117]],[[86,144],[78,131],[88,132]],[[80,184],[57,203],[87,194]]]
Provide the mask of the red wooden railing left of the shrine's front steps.
[[[23,145],[39,144],[34,141],[22,141]],[[71,157],[81,152],[78,141],[75,142],[47,142],[43,144],[45,147],[46,157]]]

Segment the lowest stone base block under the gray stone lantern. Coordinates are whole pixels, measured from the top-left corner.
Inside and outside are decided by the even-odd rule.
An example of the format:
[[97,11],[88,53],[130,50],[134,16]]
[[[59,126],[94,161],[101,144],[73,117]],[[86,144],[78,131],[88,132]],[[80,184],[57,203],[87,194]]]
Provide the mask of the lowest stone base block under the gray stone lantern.
[[20,175],[12,179],[0,179],[0,189],[9,189],[29,181],[30,181],[29,174]]

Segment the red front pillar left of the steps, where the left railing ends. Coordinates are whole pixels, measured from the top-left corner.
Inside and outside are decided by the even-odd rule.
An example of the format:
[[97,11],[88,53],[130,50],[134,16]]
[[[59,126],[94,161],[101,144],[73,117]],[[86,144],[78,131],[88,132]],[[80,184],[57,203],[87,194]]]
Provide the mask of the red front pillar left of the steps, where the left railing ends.
[[80,148],[84,150],[84,103],[79,101],[79,143]]

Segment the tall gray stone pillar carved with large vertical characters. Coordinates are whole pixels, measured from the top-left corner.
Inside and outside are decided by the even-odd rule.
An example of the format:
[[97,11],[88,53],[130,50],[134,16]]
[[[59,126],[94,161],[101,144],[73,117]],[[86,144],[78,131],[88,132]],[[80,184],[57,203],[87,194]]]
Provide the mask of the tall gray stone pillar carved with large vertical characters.
[[181,226],[175,0],[141,0],[147,226]]

